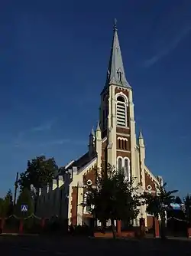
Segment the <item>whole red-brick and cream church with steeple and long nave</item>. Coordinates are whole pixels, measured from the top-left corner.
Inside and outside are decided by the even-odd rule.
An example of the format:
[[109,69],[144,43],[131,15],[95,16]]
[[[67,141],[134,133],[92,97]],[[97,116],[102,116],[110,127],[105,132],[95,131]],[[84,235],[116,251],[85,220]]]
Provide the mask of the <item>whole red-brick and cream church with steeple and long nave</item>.
[[[41,189],[37,215],[58,215],[68,218],[69,225],[83,225],[92,217],[89,209],[82,206],[86,186],[94,185],[95,169],[108,163],[116,169],[123,168],[128,180],[136,177],[140,192],[157,192],[162,178],[154,176],[145,165],[144,137],[141,132],[138,138],[135,134],[133,92],[125,76],[116,24],[100,101],[99,123],[89,135],[88,152],[66,165],[51,184]],[[152,225],[145,205],[141,206],[138,218],[141,217],[147,227]]]

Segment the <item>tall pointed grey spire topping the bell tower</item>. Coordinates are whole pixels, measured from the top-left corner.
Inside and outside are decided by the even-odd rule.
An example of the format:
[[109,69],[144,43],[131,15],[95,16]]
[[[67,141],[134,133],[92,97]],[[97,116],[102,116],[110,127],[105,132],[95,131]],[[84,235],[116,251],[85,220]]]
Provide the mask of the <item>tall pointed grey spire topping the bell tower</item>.
[[114,34],[112,41],[112,51],[110,54],[108,64],[108,75],[106,80],[106,86],[108,84],[117,84],[123,87],[131,87],[125,77],[125,68],[121,56],[121,49],[118,41],[118,28],[117,20],[114,23]]

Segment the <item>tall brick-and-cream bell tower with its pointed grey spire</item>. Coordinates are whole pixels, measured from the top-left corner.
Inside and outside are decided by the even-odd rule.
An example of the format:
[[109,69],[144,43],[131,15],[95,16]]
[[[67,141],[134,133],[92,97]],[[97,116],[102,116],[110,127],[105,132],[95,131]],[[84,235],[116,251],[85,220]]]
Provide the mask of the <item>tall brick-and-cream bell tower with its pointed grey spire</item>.
[[106,161],[116,169],[123,169],[127,179],[138,176],[135,171],[134,103],[125,76],[116,20],[105,87],[101,93],[100,129],[102,140],[107,140]]

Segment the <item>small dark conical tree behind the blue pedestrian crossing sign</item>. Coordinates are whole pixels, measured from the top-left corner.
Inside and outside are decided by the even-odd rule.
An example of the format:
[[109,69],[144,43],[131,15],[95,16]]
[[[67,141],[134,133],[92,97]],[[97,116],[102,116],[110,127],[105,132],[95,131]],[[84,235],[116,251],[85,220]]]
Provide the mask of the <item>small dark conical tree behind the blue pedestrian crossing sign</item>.
[[[21,212],[21,205],[28,205],[28,212]],[[15,207],[15,215],[17,217],[27,217],[34,213],[34,201],[31,197],[29,189],[23,189],[18,195],[17,204]]]

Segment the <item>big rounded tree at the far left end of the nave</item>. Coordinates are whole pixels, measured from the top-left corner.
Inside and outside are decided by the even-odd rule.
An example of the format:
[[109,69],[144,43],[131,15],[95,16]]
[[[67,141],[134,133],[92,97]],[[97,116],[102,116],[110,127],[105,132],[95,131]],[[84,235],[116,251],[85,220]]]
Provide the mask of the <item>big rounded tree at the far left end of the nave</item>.
[[34,199],[34,212],[36,212],[37,199],[39,190],[47,182],[50,182],[58,172],[58,166],[54,158],[46,159],[46,156],[37,156],[28,161],[28,167],[25,172],[22,172],[18,184],[21,191],[23,189],[31,190]]

